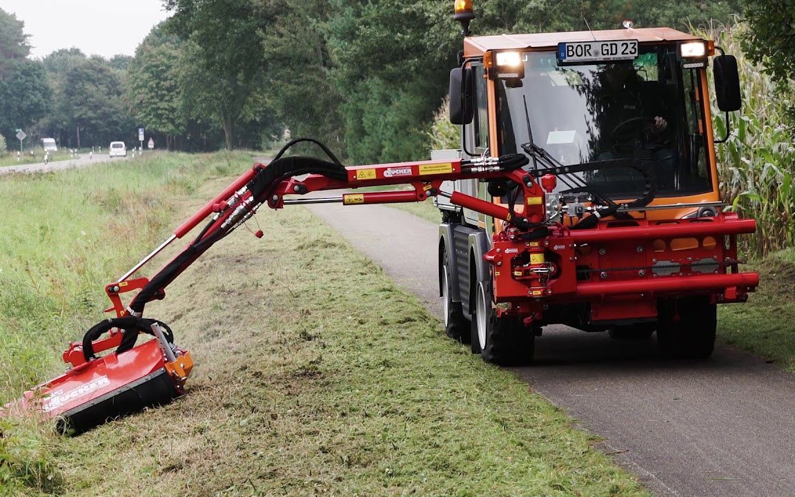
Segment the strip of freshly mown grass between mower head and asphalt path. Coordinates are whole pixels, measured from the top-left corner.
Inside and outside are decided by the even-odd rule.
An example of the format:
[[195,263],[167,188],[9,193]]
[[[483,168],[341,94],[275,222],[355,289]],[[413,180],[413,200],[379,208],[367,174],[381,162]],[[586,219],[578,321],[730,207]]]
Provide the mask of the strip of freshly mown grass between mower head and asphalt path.
[[[93,183],[103,174],[123,175],[95,169]],[[169,226],[228,181],[200,188],[189,203],[172,201],[180,208]],[[147,308],[192,350],[189,394],[80,437],[44,437],[57,466],[48,480],[54,483],[17,477],[17,488],[64,495],[646,495],[591,448],[593,437],[572,429],[510,372],[446,340],[417,299],[303,208],[265,209],[258,219],[264,239],[236,231],[169,287],[165,301]],[[112,257],[114,244],[103,243],[95,250]],[[124,251],[126,265],[148,243]],[[91,320],[101,317],[108,278],[85,311]],[[63,346],[63,334],[54,334],[52,348]],[[71,338],[78,334],[72,330]]]

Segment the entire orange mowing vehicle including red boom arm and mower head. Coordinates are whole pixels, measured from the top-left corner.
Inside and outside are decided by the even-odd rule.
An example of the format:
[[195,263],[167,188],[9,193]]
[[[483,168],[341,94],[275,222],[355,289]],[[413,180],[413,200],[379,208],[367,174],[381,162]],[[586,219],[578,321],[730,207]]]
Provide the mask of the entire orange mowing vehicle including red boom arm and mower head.
[[[656,332],[663,354],[708,358],[716,305],[746,301],[758,285],[739,271],[737,246],[754,220],[727,212],[715,163],[707,70],[718,107],[739,110],[734,57],[688,33],[631,25],[473,37],[473,17],[471,2],[457,0],[464,41],[450,118],[460,149],[344,166],[320,142],[289,142],[107,285],[115,316],[70,344],[71,369],[21,405],[80,431],[182,394],[192,356],[145,306],[262,206],[434,199],[444,326],[488,362],[528,362],[549,324],[617,338]],[[327,158],[285,155],[304,141]],[[356,191],[384,185],[405,188]],[[343,192],[305,196],[321,190]],[[137,275],[202,223],[152,278]],[[153,340],[136,345],[141,332]]]

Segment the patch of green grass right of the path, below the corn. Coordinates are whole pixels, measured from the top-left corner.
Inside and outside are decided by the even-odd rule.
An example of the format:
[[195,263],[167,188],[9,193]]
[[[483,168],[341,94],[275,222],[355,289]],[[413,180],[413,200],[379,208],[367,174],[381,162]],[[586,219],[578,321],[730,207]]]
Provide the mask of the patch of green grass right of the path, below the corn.
[[759,288],[746,304],[719,306],[718,338],[795,372],[795,250],[781,250],[748,266],[759,272]]

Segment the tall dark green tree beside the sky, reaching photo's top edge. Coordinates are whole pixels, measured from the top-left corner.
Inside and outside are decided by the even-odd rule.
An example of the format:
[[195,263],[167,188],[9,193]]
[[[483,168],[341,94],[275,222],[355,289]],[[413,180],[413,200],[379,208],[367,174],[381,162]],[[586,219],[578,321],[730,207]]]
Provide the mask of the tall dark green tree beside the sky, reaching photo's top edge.
[[252,0],[165,0],[165,6],[174,12],[166,28],[191,41],[186,98],[220,122],[233,149],[235,126],[264,82],[260,33],[270,29],[273,11]]

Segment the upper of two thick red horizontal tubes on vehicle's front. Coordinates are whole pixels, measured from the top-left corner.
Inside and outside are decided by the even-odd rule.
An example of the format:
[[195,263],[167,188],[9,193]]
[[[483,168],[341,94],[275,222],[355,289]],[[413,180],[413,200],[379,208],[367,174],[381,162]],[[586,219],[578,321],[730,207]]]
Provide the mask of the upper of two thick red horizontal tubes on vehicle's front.
[[739,235],[756,231],[754,219],[732,221],[709,221],[698,223],[651,224],[649,226],[608,227],[595,230],[572,230],[575,243],[614,242],[616,240],[638,240],[677,238],[685,236]]

